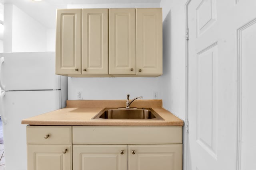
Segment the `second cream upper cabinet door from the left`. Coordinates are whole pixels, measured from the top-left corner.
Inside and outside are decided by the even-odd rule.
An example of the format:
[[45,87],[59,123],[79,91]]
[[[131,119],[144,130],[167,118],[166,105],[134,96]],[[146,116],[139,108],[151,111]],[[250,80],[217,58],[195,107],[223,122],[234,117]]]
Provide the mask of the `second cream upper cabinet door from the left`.
[[108,74],[108,9],[83,9],[82,74]]

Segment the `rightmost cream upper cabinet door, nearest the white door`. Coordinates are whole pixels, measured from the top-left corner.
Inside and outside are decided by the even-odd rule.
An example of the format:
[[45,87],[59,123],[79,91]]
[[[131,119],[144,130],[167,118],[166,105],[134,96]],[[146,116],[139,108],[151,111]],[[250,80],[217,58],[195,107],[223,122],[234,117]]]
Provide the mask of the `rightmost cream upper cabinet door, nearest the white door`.
[[136,9],[137,74],[162,74],[162,8]]

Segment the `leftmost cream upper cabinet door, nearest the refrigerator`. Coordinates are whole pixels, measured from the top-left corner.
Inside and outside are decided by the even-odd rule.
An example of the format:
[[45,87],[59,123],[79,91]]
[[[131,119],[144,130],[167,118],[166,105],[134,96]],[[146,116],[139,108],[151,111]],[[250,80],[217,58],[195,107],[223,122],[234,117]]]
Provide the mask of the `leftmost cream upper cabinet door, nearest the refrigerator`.
[[56,74],[81,74],[81,9],[57,10]]

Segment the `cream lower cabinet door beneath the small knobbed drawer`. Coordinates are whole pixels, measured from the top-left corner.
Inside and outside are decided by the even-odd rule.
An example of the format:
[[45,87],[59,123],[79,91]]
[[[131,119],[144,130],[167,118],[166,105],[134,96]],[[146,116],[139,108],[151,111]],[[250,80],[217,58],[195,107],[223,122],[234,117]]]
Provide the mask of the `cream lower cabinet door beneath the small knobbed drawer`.
[[72,170],[72,145],[27,145],[28,170]]

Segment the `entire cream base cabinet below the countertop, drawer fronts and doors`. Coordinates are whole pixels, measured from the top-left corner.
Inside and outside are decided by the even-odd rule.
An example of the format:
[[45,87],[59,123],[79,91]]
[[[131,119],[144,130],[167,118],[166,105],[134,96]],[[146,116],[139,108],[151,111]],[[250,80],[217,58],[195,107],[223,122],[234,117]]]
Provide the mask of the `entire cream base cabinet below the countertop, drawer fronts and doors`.
[[27,126],[28,170],[182,170],[181,126]]

